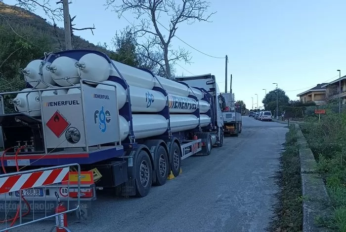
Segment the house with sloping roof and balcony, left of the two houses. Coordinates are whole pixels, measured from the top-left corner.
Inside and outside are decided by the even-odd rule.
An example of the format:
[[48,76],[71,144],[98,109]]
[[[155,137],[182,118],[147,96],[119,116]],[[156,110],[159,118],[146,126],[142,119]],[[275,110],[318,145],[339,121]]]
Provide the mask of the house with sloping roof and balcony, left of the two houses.
[[325,104],[326,99],[326,85],[328,83],[318,84],[312,89],[306,90],[305,92],[298,94],[300,101],[303,103],[314,101],[316,105]]

